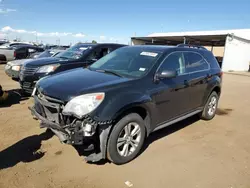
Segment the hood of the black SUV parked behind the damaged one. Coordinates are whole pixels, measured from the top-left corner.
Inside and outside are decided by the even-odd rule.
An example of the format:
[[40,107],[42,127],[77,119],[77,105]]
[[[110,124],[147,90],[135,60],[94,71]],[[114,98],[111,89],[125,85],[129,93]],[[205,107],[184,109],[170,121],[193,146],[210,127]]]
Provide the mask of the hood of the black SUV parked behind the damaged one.
[[50,64],[56,64],[56,63],[64,63],[68,62],[69,60],[60,59],[56,57],[45,57],[45,58],[38,58],[33,59],[32,61],[25,62],[26,67],[40,67],[43,65],[50,65]]

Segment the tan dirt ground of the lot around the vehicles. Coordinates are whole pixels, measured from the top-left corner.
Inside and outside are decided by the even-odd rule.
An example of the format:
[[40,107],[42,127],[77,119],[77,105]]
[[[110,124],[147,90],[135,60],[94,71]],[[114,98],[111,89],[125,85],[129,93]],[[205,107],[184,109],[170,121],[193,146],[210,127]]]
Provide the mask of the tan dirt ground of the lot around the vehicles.
[[[0,83],[18,88],[2,65]],[[123,166],[85,163],[38,128],[27,109],[32,99],[18,101],[0,108],[1,188],[118,188],[125,181],[140,188],[250,187],[250,77],[225,74],[213,121],[193,117],[155,132],[144,152]]]

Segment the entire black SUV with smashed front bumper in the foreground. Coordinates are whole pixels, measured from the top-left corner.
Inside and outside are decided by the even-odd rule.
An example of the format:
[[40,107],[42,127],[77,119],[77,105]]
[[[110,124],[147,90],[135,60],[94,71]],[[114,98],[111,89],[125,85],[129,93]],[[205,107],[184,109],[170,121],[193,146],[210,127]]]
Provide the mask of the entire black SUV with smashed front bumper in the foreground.
[[86,69],[38,81],[30,110],[62,142],[92,149],[87,161],[124,164],[153,131],[195,114],[212,119],[221,82],[204,48],[127,46]]

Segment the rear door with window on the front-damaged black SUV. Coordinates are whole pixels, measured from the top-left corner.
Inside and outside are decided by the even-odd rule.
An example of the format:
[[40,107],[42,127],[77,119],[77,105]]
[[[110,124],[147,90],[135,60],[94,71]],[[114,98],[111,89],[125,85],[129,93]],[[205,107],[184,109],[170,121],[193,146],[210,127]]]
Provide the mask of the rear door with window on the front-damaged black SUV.
[[189,74],[190,109],[201,107],[210,78],[210,65],[198,52],[185,52],[186,71]]

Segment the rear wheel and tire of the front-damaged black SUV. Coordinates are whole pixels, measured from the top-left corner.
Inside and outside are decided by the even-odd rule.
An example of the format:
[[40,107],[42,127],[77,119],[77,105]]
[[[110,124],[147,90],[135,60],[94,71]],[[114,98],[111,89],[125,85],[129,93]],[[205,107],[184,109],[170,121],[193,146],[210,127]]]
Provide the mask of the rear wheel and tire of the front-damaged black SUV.
[[214,116],[216,114],[217,107],[218,107],[218,101],[219,101],[219,96],[215,91],[213,91],[210,94],[210,96],[208,97],[206,105],[205,105],[205,107],[202,111],[202,114],[201,114],[201,119],[211,120],[214,118]]

